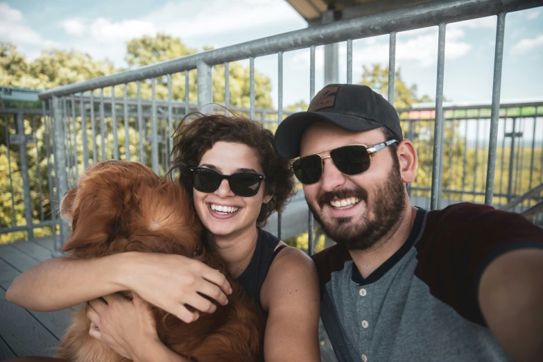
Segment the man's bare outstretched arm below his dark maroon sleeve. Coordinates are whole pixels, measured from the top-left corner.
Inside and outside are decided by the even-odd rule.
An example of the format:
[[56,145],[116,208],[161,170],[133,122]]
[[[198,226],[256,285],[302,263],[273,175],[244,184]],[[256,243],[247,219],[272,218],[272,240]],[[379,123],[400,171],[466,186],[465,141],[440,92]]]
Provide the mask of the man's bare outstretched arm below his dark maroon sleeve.
[[479,304],[502,347],[517,362],[543,356],[543,249],[506,252],[484,270]]

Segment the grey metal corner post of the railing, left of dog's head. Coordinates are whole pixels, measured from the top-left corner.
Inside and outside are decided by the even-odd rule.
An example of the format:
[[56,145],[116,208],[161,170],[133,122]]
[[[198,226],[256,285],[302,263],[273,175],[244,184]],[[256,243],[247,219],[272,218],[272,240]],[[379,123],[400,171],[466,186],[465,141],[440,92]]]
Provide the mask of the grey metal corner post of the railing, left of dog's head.
[[[68,191],[68,180],[66,172],[66,150],[64,147],[64,124],[62,122],[62,107],[60,106],[60,98],[58,96],[53,96],[53,120],[54,126],[53,129],[53,152],[55,154],[55,184],[57,188],[58,201],[62,200],[62,197]],[[54,221],[53,221],[54,223]],[[68,224],[62,220],[59,220],[60,225],[60,237],[55,238],[55,253],[60,254],[64,242],[67,241],[70,231]],[[54,224],[53,224],[54,227]]]

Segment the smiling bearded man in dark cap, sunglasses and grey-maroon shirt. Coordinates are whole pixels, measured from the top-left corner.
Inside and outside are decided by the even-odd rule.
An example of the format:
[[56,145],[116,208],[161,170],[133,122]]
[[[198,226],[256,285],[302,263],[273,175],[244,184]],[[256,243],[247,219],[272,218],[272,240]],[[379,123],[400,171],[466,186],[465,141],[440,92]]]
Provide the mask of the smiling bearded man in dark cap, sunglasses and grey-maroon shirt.
[[413,207],[417,152],[382,96],[327,85],[275,144],[336,241],[313,260],[339,361],[543,361],[543,230],[485,205]]

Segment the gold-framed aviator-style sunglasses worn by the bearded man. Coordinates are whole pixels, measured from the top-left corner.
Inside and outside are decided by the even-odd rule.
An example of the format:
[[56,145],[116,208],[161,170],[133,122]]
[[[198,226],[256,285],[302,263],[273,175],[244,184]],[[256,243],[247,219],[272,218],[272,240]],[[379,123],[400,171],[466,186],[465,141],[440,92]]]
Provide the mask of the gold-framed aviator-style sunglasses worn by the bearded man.
[[330,155],[325,157],[318,153],[300,157],[292,164],[292,171],[302,184],[314,184],[322,178],[325,159],[331,158],[336,168],[345,175],[357,175],[370,168],[370,159],[374,153],[395,142],[397,142],[396,139],[391,139],[370,147],[363,144],[354,144],[334,148],[330,150]]

